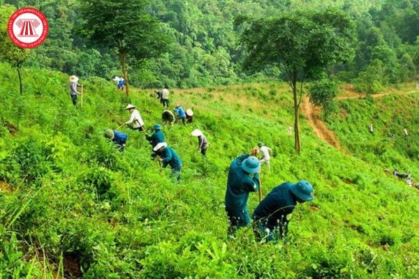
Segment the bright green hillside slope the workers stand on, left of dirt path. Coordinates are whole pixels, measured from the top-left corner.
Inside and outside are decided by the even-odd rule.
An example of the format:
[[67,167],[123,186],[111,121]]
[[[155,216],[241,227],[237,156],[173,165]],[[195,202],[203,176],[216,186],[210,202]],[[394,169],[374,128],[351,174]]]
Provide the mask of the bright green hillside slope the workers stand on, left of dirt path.
[[[6,126],[0,129],[3,278],[415,278],[418,273],[418,191],[384,174],[376,163],[381,157],[366,163],[328,146],[304,116],[302,153],[296,154],[286,133],[293,109],[285,84],[173,90],[170,109],[180,103],[195,112],[191,125],[163,130],[184,161],[177,184],[168,169],[160,174],[149,160],[142,134],[121,129],[128,133],[124,153],[103,137],[105,128],[128,119],[127,103],[138,106],[147,127],[159,122],[162,107],[154,93],[136,91],[126,98],[109,82],[80,80],[84,107],[76,109],[66,75],[24,69],[20,96],[13,69],[0,64],[0,73],[5,77],[0,119],[17,128],[13,134]],[[194,153],[194,128],[210,140],[207,159]],[[290,245],[260,245],[251,229],[242,229],[235,240],[226,238],[228,166],[260,140],[274,151],[272,169],[261,174],[263,195],[284,181],[307,179],[315,188],[314,202],[294,211]],[[397,160],[411,162],[402,155]],[[249,211],[257,199],[251,195]]]

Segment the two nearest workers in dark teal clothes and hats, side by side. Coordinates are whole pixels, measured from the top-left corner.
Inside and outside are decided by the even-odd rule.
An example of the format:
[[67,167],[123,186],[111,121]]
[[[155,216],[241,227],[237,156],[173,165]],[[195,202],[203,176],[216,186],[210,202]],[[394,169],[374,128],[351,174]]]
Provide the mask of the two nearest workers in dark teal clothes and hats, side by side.
[[304,180],[297,183],[285,182],[273,188],[264,199],[260,200],[261,160],[253,156],[253,153],[254,149],[249,154],[238,156],[230,164],[225,197],[230,224],[227,234],[230,238],[234,238],[237,229],[247,227],[251,223],[247,199],[249,193],[259,191],[260,203],[252,215],[256,239],[261,242],[279,241],[279,239],[287,241],[288,223],[293,210],[297,202],[311,202],[314,199],[313,186]]

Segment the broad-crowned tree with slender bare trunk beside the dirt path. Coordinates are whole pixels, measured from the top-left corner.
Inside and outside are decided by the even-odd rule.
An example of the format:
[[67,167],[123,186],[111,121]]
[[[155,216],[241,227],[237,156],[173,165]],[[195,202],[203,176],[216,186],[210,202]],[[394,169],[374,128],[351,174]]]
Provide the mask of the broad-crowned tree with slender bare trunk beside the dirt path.
[[242,34],[247,49],[245,68],[277,66],[293,91],[295,150],[300,152],[299,110],[307,78],[332,63],[353,59],[355,24],[337,10],[301,11],[276,18],[246,20]]

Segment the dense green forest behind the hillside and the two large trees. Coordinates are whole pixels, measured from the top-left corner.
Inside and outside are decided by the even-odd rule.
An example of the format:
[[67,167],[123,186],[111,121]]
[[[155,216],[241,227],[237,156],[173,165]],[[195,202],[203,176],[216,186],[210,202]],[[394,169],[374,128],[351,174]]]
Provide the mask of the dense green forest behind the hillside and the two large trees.
[[[121,5],[124,5],[124,1]],[[329,3],[328,3],[329,2]],[[88,45],[80,36],[83,23],[79,0],[0,0],[1,5],[39,8],[50,23],[50,34],[33,50],[27,66],[51,68],[81,77],[107,80],[121,75],[117,54]],[[355,59],[330,69],[330,74],[365,91],[365,81],[388,84],[415,80],[419,69],[419,0],[151,0],[148,12],[163,23],[171,38],[168,52],[157,59],[128,61],[134,86],[143,88],[195,87],[233,84],[281,72],[245,73],[245,51],[240,44],[239,15],[270,17],[296,9],[337,8],[353,17],[357,40]],[[115,10],[115,14],[119,13]],[[129,63],[131,62],[131,63]]]

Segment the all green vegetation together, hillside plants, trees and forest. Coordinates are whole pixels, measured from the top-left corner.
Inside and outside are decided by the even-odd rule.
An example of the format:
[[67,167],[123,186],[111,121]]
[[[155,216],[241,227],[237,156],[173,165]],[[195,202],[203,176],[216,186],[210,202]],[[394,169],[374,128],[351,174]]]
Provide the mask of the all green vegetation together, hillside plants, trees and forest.
[[[50,23],[34,50],[7,40],[8,17],[24,6]],[[418,190],[391,171],[419,174],[418,10],[417,0],[0,0],[0,277],[417,278]],[[235,24],[250,15],[254,25]],[[128,72],[130,95],[110,81]],[[71,103],[69,75],[84,85],[83,107]],[[341,93],[342,81],[365,97],[350,85]],[[138,88],[165,84],[170,109],[194,112],[190,125],[163,128],[182,183],[159,172],[142,133],[122,128],[123,153],[103,137],[128,119],[127,103],[146,128],[161,122],[155,93]],[[300,114],[305,93],[341,149]],[[251,228],[226,236],[228,167],[259,141],[273,151],[263,195],[284,181],[314,186],[287,245],[256,243]],[[257,204],[255,193],[249,211]]]

